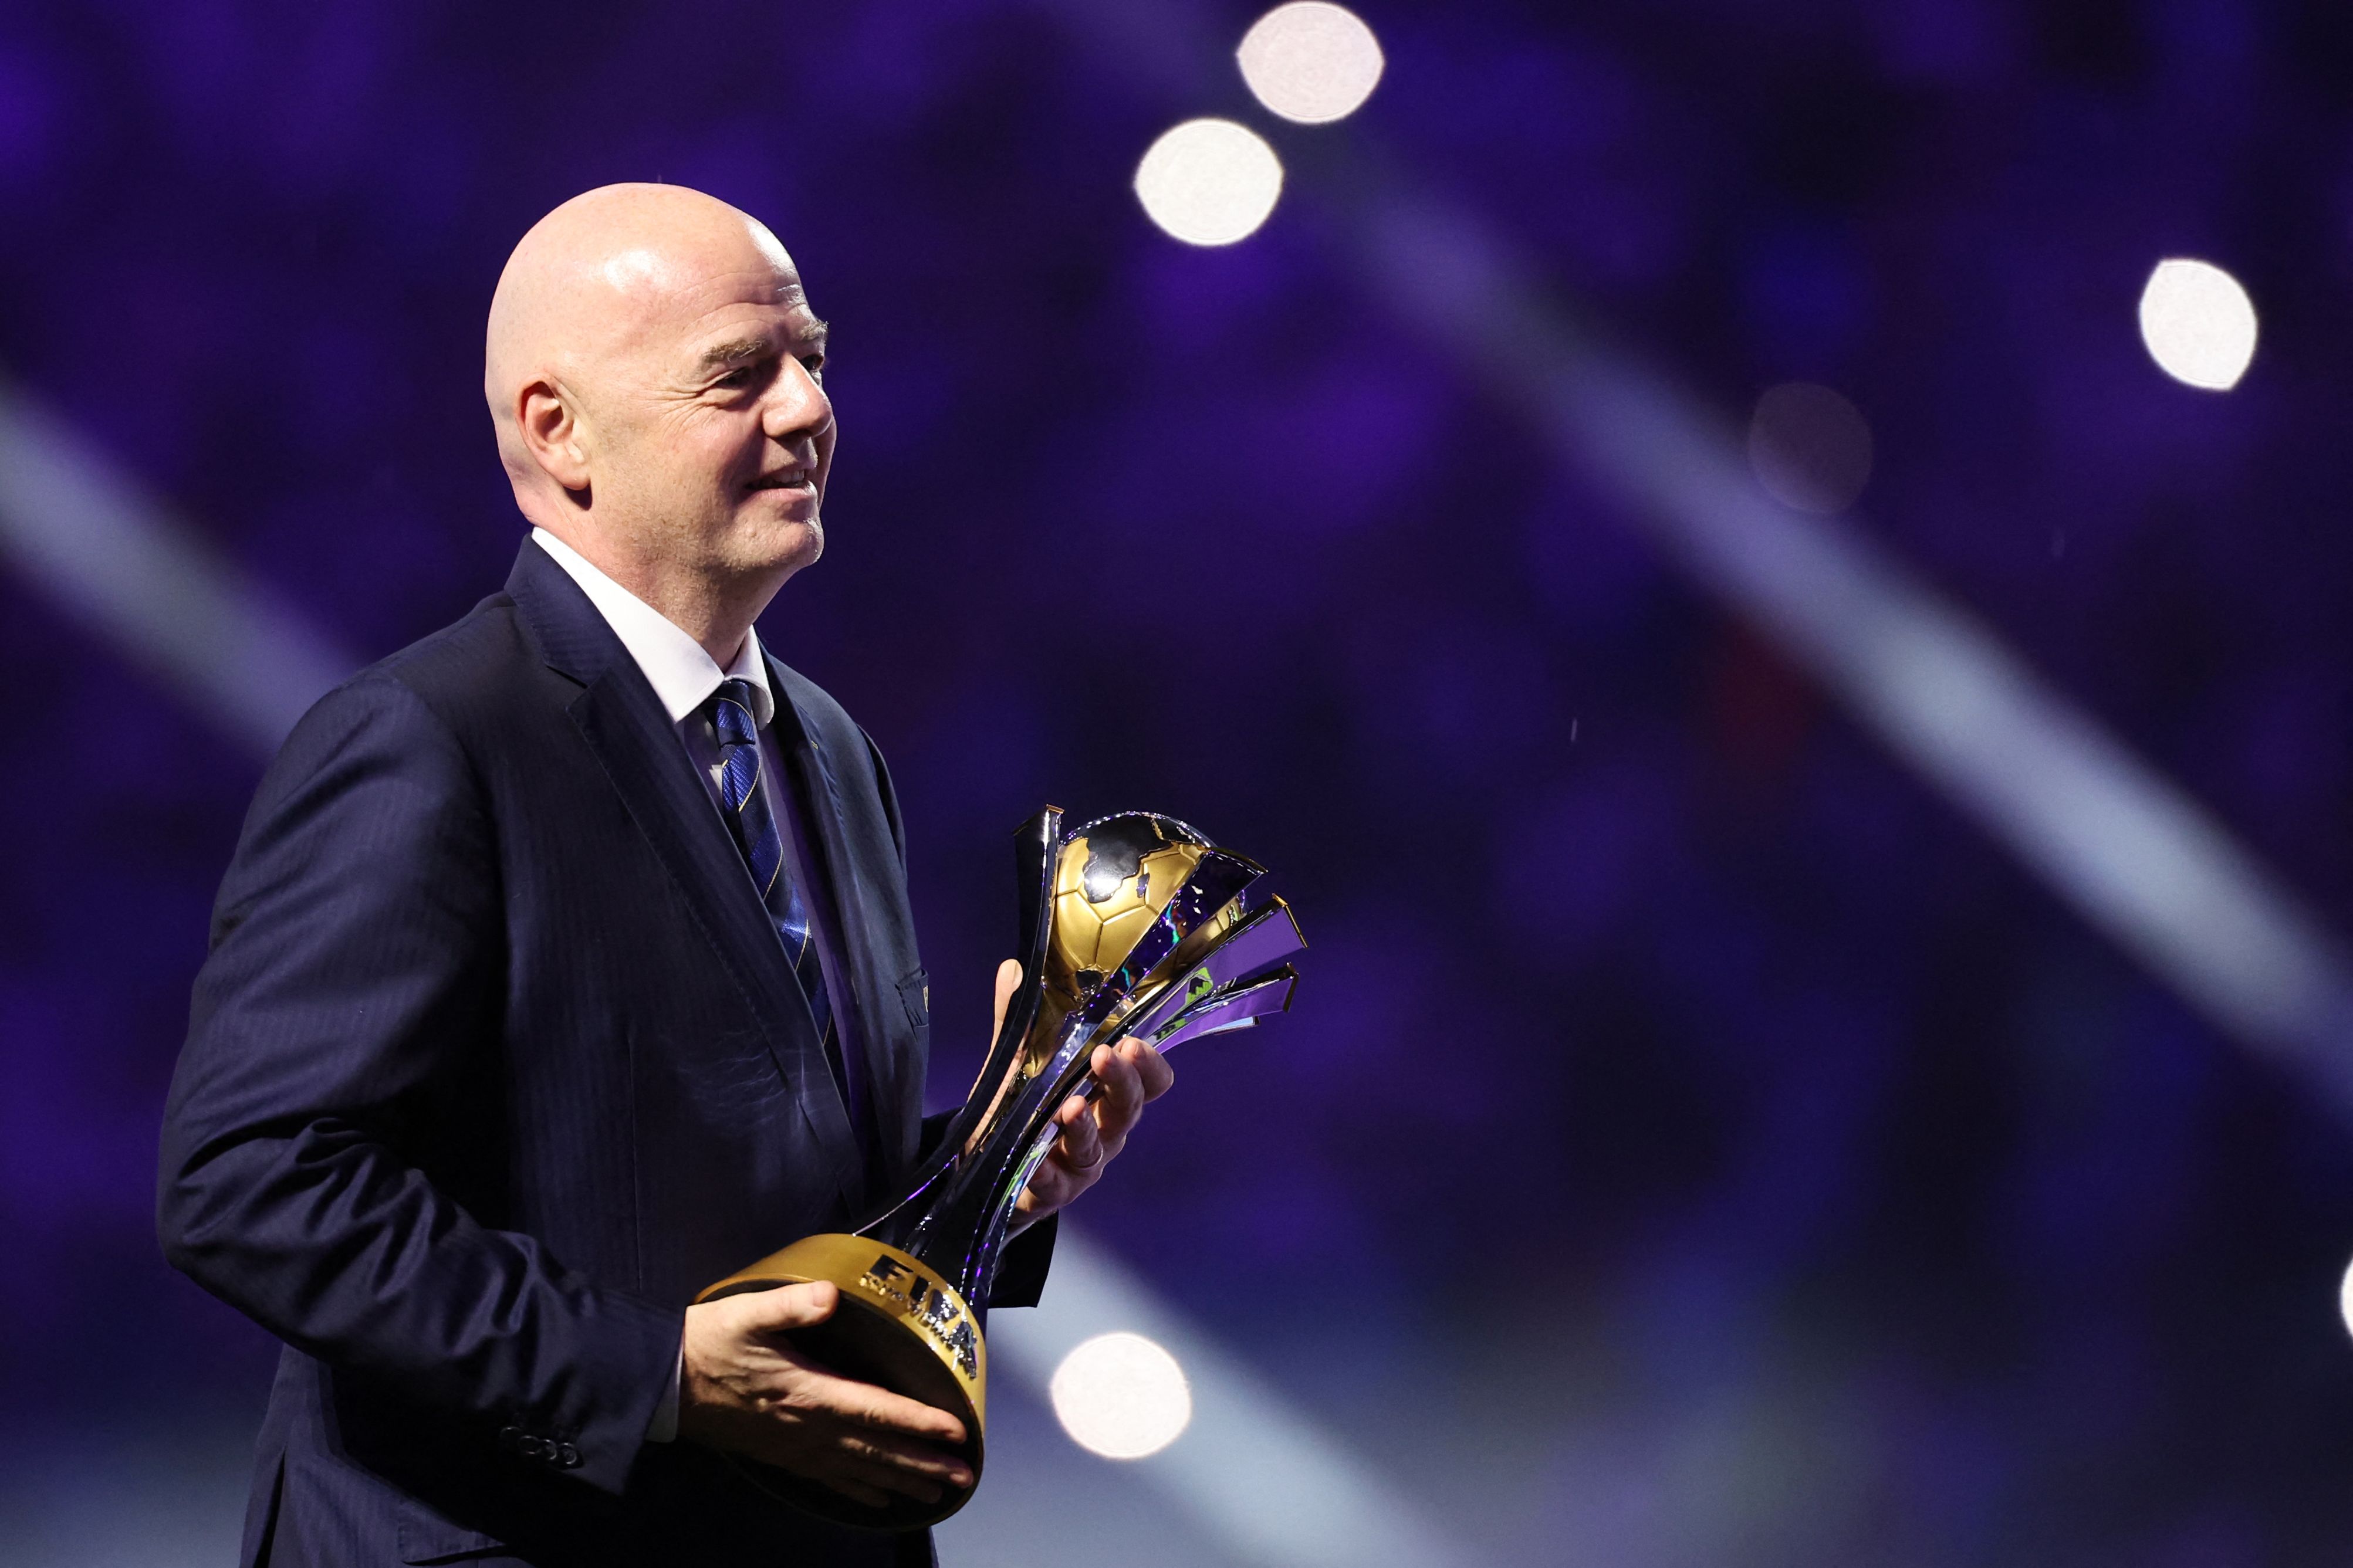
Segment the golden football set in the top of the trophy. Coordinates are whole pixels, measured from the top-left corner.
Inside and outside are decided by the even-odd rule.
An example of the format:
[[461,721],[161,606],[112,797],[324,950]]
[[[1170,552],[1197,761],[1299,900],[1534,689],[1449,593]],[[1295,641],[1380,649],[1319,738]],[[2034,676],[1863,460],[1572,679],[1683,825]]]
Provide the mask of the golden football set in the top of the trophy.
[[1209,842],[1167,816],[1087,823],[1054,865],[1054,943],[1047,990],[1080,1001],[1115,971],[1169,907]]

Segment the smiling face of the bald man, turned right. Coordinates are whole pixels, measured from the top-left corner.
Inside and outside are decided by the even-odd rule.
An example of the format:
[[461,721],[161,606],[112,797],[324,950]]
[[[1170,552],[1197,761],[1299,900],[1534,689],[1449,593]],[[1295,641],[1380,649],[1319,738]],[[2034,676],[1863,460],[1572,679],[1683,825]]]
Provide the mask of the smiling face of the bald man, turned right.
[[791,256],[746,230],[605,270],[642,310],[584,388],[600,524],[715,576],[781,583],[826,548],[833,465],[826,324]]

